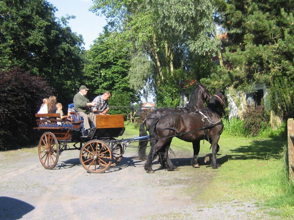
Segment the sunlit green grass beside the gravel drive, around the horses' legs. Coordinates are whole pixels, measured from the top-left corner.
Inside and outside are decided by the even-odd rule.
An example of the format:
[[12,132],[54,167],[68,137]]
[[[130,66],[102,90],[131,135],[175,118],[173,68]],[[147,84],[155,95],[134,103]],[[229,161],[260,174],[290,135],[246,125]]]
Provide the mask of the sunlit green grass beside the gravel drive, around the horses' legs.
[[[138,136],[138,129],[126,127],[126,134]],[[202,145],[202,153],[209,153],[210,144]],[[220,169],[202,166],[206,173],[212,172],[213,180],[201,195],[203,202],[211,201],[256,201],[266,207],[274,207],[271,215],[283,219],[294,219],[294,185],[289,184],[285,169],[285,147],[287,139],[238,138],[221,136],[220,152],[217,157]],[[171,148],[189,151],[193,154],[191,143],[173,138]],[[191,194],[198,187],[185,188]]]

